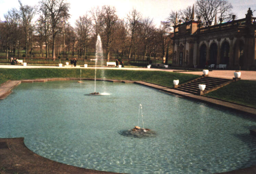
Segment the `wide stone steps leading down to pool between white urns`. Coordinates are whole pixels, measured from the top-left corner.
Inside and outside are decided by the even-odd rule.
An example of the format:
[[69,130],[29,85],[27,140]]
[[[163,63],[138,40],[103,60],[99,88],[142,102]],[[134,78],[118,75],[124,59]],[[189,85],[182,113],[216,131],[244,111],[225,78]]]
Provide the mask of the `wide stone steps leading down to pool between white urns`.
[[229,83],[231,83],[233,80],[230,79],[222,79],[222,78],[215,78],[215,77],[200,77],[195,80],[189,81],[184,84],[180,84],[176,86],[176,90],[188,92],[191,94],[200,95],[198,84],[205,84],[206,88],[203,91],[203,94],[206,94],[208,92],[217,90],[221,88],[222,86],[225,86]]

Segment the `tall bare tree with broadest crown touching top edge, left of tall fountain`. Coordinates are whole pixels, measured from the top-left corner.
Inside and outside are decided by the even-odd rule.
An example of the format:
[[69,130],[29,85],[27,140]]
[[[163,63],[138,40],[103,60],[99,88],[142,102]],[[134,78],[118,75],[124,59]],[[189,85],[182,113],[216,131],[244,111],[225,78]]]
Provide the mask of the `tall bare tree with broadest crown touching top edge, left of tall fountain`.
[[55,60],[55,42],[56,36],[62,31],[61,21],[63,18],[68,19],[70,17],[69,3],[65,0],[43,0],[42,5],[44,5],[50,14],[50,27],[51,35],[53,37],[53,59]]

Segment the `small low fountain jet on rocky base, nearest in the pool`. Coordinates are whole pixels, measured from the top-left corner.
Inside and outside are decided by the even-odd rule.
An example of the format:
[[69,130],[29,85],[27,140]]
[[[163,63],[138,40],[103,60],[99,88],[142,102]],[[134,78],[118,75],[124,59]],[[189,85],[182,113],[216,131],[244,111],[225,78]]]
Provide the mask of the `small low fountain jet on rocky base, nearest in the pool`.
[[[139,127],[139,120],[140,116],[142,118],[142,128]],[[135,138],[145,138],[145,137],[154,137],[155,132],[150,129],[144,128],[144,122],[143,122],[143,113],[142,113],[142,105],[139,105],[139,113],[138,113],[138,124],[133,129],[125,130],[120,132],[121,135],[124,136],[131,136]]]

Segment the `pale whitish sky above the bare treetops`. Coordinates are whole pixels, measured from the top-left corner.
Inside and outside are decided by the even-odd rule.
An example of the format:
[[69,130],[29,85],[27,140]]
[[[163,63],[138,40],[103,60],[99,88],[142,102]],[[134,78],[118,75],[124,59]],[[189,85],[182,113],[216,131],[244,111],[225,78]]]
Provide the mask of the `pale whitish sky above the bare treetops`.
[[[256,10],[256,0],[228,0],[233,5],[233,12],[236,19],[245,18],[248,8]],[[21,0],[22,4],[38,5],[39,0]],[[111,5],[115,6],[119,18],[125,18],[127,14],[135,8],[143,17],[150,17],[158,27],[161,21],[165,21],[170,12],[185,9],[187,6],[193,6],[196,0],[67,0],[70,3],[69,13],[71,17],[69,22],[72,26],[79,16],[89,12],[93,7]],[[0,0],[0,20],[4,20],[4,14],[8,10],[19,9],[18,0]],[[254,12],[254,17],[256,11]]]

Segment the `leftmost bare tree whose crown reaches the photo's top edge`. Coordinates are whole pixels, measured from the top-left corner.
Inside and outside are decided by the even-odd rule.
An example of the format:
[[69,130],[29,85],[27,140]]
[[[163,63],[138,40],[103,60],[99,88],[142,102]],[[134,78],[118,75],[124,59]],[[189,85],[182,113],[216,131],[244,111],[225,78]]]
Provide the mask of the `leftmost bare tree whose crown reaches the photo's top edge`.
[[[26,45],[26,56],[27,57],[27,49],[28,49],[28,30],[30,27],[30,23],[34,17],[34,15],[37,12],[37,7],[36,6],[30,6],[30,5],[23,5],[21,1],[19,0],[20,3],[20,17],[22,19],[23,23],[23,29],[25,32],[25,45]],[[25,58],[24,58],[25,61]]]

